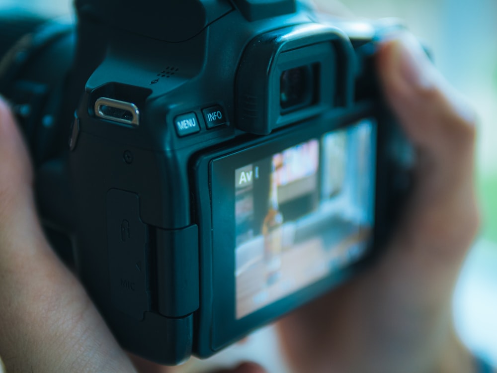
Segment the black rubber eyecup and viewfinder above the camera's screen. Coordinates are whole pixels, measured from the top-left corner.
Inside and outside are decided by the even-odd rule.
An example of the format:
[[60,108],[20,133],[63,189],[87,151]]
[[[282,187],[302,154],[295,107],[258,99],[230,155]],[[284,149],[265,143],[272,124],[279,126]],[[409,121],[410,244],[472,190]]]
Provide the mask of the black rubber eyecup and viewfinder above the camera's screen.
[[237,73],[236,127],[257,135],[352,103],[353,47],[340,30],[289,26],[257,36]]

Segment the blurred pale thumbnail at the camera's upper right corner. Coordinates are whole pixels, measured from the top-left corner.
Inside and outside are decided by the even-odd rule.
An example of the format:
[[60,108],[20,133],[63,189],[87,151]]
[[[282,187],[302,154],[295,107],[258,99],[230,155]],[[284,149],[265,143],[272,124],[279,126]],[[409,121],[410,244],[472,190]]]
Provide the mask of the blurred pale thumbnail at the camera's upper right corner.
[[396,43],[397,63],[402,78],[411,86],[429,90],[435,85],[434,66],[421,44],[408,32],[403,32]]

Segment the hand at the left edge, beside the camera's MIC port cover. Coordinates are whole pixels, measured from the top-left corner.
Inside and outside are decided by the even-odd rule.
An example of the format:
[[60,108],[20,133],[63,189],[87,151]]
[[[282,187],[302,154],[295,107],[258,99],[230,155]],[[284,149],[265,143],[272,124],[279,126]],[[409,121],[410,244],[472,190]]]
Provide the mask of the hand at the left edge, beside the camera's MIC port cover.
[[0,355],[7,372],[133,372],[40,227],[27,150],[0,100]]

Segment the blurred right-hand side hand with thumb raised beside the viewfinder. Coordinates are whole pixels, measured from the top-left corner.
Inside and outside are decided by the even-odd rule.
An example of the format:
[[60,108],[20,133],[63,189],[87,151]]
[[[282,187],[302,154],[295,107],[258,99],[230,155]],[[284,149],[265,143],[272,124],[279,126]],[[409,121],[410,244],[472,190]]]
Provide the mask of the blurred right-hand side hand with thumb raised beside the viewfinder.
[[377,70],[417,149],[414,192],[377,266],[280,322],[284,350],[298,372],[474,372],[451,297],[479,224],[475,116],[407,33]]

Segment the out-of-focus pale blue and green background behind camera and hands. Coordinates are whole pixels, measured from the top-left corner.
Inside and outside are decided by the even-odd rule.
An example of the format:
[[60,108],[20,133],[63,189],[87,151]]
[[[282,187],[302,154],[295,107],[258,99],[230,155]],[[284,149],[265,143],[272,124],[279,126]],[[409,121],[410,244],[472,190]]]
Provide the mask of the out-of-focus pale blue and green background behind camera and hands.
[[[497,366],[497,0],[317,0],[333,12],[359,17],[399,17],[432,51],[447,80],[479,115],[476,178],[483,213],[481,232],[463,268],[454,318],[465,344]],[[71,0],[0,0],[0,11],[22,8],[44,16],[70,13]],[[1,25],[0,25],[1,27]],[[271,327],[209,360],[210,366],[255,359],[285,372]],[[191,361],[177,372],[200,372]]]

